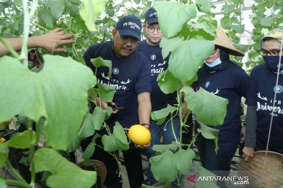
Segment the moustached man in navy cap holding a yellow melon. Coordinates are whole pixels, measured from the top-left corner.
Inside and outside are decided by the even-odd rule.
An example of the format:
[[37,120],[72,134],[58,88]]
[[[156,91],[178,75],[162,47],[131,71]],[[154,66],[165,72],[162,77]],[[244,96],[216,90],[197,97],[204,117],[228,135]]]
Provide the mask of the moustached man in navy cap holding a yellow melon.
[[[150,66],[147,58],[136,50],[141,40],[140,19],[134,15],[122,17],[119,19],[116,28],[112,30],[112,36],[113,41],[91,45],[83,55],[86,65],[93,70],[94,74],[96,72],[97,82],[115,87],[114,98],[110,105],[124,107],[124,109],[113,111],[112,116],[109,120],[106,120],[106,123],[111,131],[113,131],[116,121],[124,128],[141,124],[149,129],[151,115]],[[111,78],[108,75],[108,67],[98,67],[96,70],[91,63],[90,60],[97,57],[112,61]],[[99,104],[99,99],[97,99],[97,103]],[[102,109],[106,109],[108,105],[109,103],[101,100]],[[106,134],[104,130],[97,132]],[[86,140],[89,143],[91,139],[87,138]],[[96,143],[102,146],[101,137],[96,139]],[[141,187],[144,181],[140,148],[146,148],[149,145],[150,142],[143,146],[135,145],[136,147],[130,144],[130,148],[123,151],[131,188]],[[102,161],[106,165],[106,186],[108,188],[122,187],[121,176],[116,173],[118,165],[114,157],[100,147],[95,147],[93,158]]]

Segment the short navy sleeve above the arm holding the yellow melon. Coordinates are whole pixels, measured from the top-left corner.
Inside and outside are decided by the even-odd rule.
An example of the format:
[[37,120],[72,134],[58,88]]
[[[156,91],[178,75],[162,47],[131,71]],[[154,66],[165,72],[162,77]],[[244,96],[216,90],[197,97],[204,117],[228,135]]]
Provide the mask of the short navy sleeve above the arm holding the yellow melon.
[[136,82],[136,93],[140,94],[143,92],[152,92],[151,90],[151,69],[149,65],[149,61],[146,57],[143,60],[141,65],[140,74],[138,76],[138,80]]

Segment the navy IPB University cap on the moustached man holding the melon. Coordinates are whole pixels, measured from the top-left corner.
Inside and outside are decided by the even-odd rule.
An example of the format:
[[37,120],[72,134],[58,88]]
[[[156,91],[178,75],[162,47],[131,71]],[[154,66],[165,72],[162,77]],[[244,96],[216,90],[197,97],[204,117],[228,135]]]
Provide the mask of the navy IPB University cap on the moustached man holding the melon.
[[141,41],[141,20],[134,15],[119,19],[116,29],[120,36],[132,36]]

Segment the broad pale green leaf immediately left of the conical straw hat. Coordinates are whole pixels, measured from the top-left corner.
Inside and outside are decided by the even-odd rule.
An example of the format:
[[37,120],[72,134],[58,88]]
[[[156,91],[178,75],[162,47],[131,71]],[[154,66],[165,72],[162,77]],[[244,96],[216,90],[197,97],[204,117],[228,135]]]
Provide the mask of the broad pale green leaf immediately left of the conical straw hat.
[[169,70],[175,78],[181,81],[192,79],[203,59],[209,57],[214,50],[213,41],[199,41],[190,39],[182,41],[179,37],[166,39],[162,38],[160,47],[162,56],[169,57]]

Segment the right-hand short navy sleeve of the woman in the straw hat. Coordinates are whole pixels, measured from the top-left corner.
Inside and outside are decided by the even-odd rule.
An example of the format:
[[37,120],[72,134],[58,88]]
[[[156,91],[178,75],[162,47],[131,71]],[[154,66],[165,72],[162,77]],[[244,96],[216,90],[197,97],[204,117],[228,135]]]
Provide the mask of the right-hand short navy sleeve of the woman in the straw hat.
[[243,97],[246,97],[249,76],[242,68],[235,72],[234,87],[235,90]]

